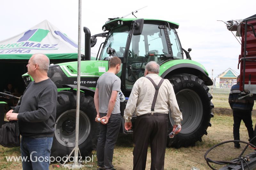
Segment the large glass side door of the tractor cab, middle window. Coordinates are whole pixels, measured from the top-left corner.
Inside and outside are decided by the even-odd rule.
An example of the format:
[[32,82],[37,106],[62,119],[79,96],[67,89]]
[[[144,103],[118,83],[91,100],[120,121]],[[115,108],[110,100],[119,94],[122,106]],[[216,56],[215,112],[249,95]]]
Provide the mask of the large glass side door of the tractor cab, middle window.
[[126,63],[125,88],[132,89],[135,81],[144,76],[145,66],[150,61],[162,63],[170,58],[164,30],[156,24],[144,24],[141,35],[133,35]]

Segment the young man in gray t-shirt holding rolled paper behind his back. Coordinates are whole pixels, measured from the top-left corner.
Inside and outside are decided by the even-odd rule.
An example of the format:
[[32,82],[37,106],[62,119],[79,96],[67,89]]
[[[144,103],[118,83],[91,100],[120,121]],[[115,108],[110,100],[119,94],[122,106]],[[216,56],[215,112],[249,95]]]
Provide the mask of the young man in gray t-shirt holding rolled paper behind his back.
[[97,111],[96,122],[100,121],[100,134],[97,143],[97,169],[113,170],[114,145],[121,126],[120,99],[121,80],[116,74],[120,71],[121,60],[113,57],[108,62],[109,70],[97,81],[94,104]]

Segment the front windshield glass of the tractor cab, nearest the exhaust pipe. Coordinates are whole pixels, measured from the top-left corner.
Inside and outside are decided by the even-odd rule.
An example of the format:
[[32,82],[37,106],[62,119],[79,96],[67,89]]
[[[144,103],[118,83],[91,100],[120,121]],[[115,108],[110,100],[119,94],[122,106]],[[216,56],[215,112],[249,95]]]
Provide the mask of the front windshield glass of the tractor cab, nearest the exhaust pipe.
[[113,30],[108,39],[106,39],[102,52],[100,55],[100,60],[104,60],[109,55],[107,54],[107,48],[111,47],[116,50],[116,56],[123,57],[124,50],[126,46],[126,41],[129,33],[129,27],[123,26]]

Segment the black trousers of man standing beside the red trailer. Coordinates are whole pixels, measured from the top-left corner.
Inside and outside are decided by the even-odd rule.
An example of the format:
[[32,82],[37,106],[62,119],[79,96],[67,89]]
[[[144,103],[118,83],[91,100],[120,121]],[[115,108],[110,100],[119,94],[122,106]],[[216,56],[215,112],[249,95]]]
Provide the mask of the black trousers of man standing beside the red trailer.
[[[234,140],[240,140],[239,129],[241,121],[244,121],[245,127],[247,128],[249,141],[254,137],[253,127],[252,127],[252,112],[251,111],[233,111],[233,135]],[[236,142],[235,144],[238,144]]]

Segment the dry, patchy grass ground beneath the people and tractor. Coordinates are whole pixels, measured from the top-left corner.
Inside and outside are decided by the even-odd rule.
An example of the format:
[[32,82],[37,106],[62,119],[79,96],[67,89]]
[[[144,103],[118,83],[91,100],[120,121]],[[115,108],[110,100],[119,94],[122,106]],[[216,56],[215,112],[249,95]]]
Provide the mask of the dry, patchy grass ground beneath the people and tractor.
[[[256,118],[253,117],[253,124],[256,123]],[[205,152],[215,144],[218,144],[223,141],[233,140],[233,117],[227,115],[214,115],[211,120],[212,127],[209,127],[207,132],[208,135],[204,135],[202,142],[196,142],[196,145],[193,147],[181,147],[176,148],[167,148],[165,154],[165,164],[164,169],[166,170],[190,170],[193,166],[199,168],[200,170],[210,169],[207,166],[206,161],[204,160]],[[244,123],[241,123],[240,127],[240,139],[243,141],[248,141],[247,129],[244,126]],[[212,150],[209,153],[208,157],[213,160],[231,160],[236,158],[243,150],[245,144],[241,144],[240,149],[235,149],[233,143],[221,145],[216,149]],[[131,136],[119,136],[118,142],[114,150],[113,165],[117,170],[130,170],[132,169],[132,137]],[[254,150],[249,148],[246,153],[253,152]],[[94,157],[96,151],[92,152]],[[21,162],[7,162],[6,156],[20,156],[20,148],[4,148],[0,146],[0,169],[22,169]],[[50,169],[64,169],[64,168],[53,168],[52,165],[58,165],[53,163],[50,165]],[[82,169],[96,169],[97,158],[94,157],[93,162],[86,164],[91,167],[83,167]],[[85,165],[85,166],[86,166]],[[222,166],[216,166],[215,168],[220,168]],[[147,158],[147,167],[150,169],[150,148],[148,148],[148,158]]]

